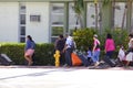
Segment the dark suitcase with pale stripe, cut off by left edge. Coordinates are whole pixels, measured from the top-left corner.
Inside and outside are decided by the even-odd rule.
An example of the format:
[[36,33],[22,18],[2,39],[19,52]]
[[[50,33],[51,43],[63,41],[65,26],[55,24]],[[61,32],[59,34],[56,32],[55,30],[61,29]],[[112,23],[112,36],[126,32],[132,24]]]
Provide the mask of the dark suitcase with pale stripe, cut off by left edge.
[[11,65],[12,61],[6,54],[0,54],[0,64],[1,65]]

